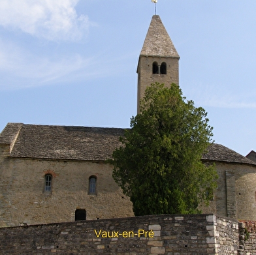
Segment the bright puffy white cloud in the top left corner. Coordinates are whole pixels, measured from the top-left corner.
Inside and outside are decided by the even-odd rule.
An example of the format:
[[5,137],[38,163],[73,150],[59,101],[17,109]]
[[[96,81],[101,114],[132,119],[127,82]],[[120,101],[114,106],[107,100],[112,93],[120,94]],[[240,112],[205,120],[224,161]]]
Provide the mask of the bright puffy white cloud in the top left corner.
[[48,40],[76,40],[93,25],[76,13],[79,0],[1,0],[0,25]]

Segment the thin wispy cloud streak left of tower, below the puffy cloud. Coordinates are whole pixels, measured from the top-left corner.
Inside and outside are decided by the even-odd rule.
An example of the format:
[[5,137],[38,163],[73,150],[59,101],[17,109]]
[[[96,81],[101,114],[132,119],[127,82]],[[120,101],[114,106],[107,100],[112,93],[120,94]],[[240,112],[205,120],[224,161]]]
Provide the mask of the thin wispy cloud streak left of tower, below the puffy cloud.
[[[116,77],[125,70],[123,58],[127,57],[129,55],[110,59],[103,53],[84,57],[69,51],[65,54],[51,55],[48,52],[36,55],[15,42],[0,39],[0,91]],[[120,63],[116,68],[118,74],[112,72],[116,62]]]

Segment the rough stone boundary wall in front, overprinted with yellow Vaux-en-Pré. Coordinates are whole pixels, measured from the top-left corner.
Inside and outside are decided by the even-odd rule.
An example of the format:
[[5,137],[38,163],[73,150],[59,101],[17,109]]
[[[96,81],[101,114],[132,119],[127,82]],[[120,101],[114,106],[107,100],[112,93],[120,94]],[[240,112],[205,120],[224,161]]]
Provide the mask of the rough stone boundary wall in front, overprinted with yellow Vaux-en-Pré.
[[0,228],[0,254],[238,254],[238,222],[216,215],[150,215]]

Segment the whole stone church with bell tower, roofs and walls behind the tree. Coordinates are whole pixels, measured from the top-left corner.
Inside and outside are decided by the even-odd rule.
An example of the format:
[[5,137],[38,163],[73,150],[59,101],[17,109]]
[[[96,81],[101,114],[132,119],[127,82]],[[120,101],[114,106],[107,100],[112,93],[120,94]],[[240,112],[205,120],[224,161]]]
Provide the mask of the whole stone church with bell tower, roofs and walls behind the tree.
[[[178,84],[180,56],[154,15],[138,59],[138,102],[152,82]],[[139,109],[138,109],[139,111]],[[0,134],[0,227],[133,216],[106,164],[123,128],[8,123]],[[256,220],[256,162],[213,144],[218,187],[204,213]]]

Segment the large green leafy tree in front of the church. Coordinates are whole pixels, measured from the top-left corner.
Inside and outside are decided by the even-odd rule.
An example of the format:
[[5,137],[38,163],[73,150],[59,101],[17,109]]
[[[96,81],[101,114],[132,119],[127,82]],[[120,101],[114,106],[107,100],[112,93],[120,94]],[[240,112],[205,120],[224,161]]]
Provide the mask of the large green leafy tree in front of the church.
[[200,213],[199,204],[211,199],[217,173],[201,162],[213,135],[206,115],[174,83],[146,89],[110,160],[135,215]]

